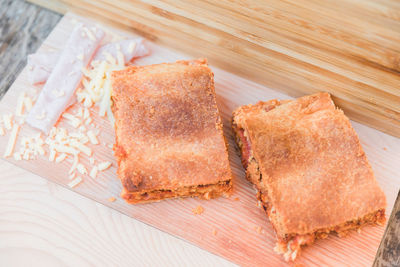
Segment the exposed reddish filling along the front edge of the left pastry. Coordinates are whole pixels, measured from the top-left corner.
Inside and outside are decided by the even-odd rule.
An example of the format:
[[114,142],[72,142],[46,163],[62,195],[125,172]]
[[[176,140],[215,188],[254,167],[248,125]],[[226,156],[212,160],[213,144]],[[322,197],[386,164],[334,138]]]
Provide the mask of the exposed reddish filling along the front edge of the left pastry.
[[154,202],[164,198],[200,197],[203,199],[215,198],[229,194],[232,181],[221,181],[217,184],[186,186],[177,189],[158,189],[151,191],[129,192],[123,189],[122,198],[129,203]]

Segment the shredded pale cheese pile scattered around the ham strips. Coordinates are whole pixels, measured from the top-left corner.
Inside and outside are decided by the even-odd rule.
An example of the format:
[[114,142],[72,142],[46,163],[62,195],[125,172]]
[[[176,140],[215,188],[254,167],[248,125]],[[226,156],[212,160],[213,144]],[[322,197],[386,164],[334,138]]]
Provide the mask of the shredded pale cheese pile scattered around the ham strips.
[[[36,92],[35,92],[36,93]],[[96,162],[93,151],[89,147],[91,145],[99,145],[99,130],[93,124],[91,113],[87,107],[79,107],[73,113],[64,112],[62,120],[75,128],[74,131],[68,131],[64,127],[53,127],[50,133],[43,137],[42,133],[32,136],[19,135],[21,126],[24,124],[26,115],[35,101],[36,96],[30,98],[26,92],[19,95],[15,114],[3,114],[0,116],[0,136],[10,131],[8,144],[4,153],[4,157],[13,156],[17,161],[34,160],[39,156],[46,156],[50,162],[60,163],[66,159],[72,160],[71,168],[68,171],[68,186],[75,187],[83,181],[82,176],[88,175],[96,178],[97,175],[109,169],[112,163],[109,161]],[[19,122],[16,119],[20,119]],[[94,126],[93,129],[87,129]],[[18,149],[17,139],[20,139]],[[106,144],[104,144],[106,145]],[[15,152],[14,152],[15,150]],[[80,162],[81,157],[88,157],[91,171],[87,170],[84,164]],[[79,176],[80,175],[80,176]]]

